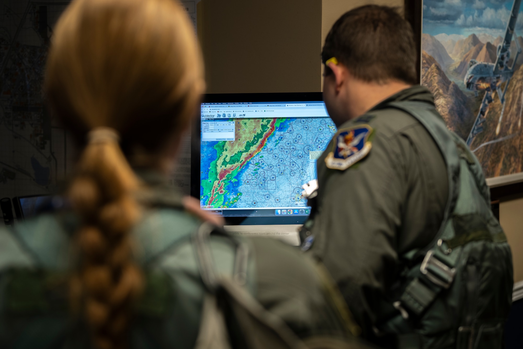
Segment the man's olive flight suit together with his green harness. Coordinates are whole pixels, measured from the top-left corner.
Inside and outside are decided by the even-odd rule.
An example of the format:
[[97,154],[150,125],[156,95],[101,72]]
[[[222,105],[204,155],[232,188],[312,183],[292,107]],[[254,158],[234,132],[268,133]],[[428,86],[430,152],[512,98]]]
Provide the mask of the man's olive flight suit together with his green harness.
[[375,130],[370,154],[345,171],[319,159],[301,235],[363,335],[401,349],[501,348],[511,253],[479,162],[420,86],[340,129],[358,123]]

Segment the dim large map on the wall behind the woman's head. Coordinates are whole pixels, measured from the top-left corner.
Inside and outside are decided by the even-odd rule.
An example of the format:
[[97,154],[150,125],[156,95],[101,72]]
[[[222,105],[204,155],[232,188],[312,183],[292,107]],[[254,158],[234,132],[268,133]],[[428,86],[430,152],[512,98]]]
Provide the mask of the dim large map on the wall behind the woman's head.
[[[199,0],[182,2],[196,30]],[[0,2],[0,199],[55,193],[78,151],[47,112],[42,82],[53,27],[69,1]],[[190,135],[169,183],[189,193]]]

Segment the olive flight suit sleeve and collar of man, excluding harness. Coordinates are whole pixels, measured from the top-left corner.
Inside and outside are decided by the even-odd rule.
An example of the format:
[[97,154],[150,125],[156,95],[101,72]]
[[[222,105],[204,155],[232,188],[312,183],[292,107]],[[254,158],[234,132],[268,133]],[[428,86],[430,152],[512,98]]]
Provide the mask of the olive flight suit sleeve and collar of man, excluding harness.
[[[346,170],[327,168],[327,146],[317,160],[317,196],[300,236],[337,282],[367,337],[383,321],[382,302],[402,270],[401,256],[427,246],[448,198],[444,158],[413,116],[388,107],[399,101],[434,105],[428,89],[413,86],[339,126],[369,125],[372,148]],[[306,248],[306,246],[305,246]]]

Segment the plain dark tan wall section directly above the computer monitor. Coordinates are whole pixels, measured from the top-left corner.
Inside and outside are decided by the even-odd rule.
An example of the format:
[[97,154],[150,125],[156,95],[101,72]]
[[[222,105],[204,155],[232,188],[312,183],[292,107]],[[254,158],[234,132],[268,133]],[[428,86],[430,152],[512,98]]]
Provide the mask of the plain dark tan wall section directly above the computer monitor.
[[202,0],[208,93],[321,91],[321,0]]

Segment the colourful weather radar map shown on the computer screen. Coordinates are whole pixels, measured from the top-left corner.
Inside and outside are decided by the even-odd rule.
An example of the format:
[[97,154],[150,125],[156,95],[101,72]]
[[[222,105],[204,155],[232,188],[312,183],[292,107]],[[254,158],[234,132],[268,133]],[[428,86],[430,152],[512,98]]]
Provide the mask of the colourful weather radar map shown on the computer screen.
[[336,133],[322,115],[230,118],[234,140],[202,138],[202,208],[306,206],[301,186],[316,178],[316,159]]

